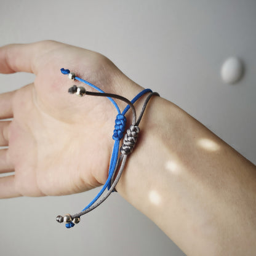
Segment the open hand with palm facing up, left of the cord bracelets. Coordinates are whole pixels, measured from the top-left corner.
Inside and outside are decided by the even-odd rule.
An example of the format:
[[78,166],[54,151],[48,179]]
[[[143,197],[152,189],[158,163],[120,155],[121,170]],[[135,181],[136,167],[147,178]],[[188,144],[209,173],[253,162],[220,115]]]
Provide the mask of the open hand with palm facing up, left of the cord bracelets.
[[[116,110],[106,98],[68,94],[68,68],[106,92],[132,98],[141,87],[108,58],[54,41],[0,48],[0,73],[36,74],[0,95],[0,198],[79,193],[108,177]],[[129,89],[127,88],[129,87]],[[121,106],[124,106],[123,104]]]

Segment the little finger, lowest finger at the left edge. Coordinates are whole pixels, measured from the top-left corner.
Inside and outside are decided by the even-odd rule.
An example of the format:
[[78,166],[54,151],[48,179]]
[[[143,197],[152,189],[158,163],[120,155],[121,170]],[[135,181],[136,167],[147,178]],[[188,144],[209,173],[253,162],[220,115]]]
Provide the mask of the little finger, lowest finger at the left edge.
[[21,196],[15,190],[14,178],[14,175],[0,178],[0,198],[16,198],[17,196]]

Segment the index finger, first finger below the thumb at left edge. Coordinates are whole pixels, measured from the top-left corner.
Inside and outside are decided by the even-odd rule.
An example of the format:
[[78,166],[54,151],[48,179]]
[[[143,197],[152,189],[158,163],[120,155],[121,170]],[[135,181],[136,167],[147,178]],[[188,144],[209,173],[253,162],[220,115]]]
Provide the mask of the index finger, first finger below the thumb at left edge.
[[0,119],[14,117],[14,113],[12,113],[12,98],[14,94],[15,90],[0,94]]

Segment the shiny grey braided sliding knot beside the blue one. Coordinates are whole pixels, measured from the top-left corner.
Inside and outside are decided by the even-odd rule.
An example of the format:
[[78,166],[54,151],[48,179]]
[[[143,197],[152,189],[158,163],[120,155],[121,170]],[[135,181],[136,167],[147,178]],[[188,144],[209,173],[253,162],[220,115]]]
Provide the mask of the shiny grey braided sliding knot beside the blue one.
[[122,154],[130,154],[132,150],[134,150],[135,143],[137,142],[138,133],[140,132],[140,128],[138,126],[130,126],[126,131],[126,135],[124,135],[124,141],[121,146]]

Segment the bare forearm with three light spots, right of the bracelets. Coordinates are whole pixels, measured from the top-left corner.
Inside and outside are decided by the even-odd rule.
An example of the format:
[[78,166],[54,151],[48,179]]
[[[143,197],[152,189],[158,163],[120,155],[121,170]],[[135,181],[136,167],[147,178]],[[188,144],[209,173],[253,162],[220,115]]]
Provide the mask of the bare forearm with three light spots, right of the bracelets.
[[118,192],[188,255],[256,250],[255,166],[174,104],[155,97]]

